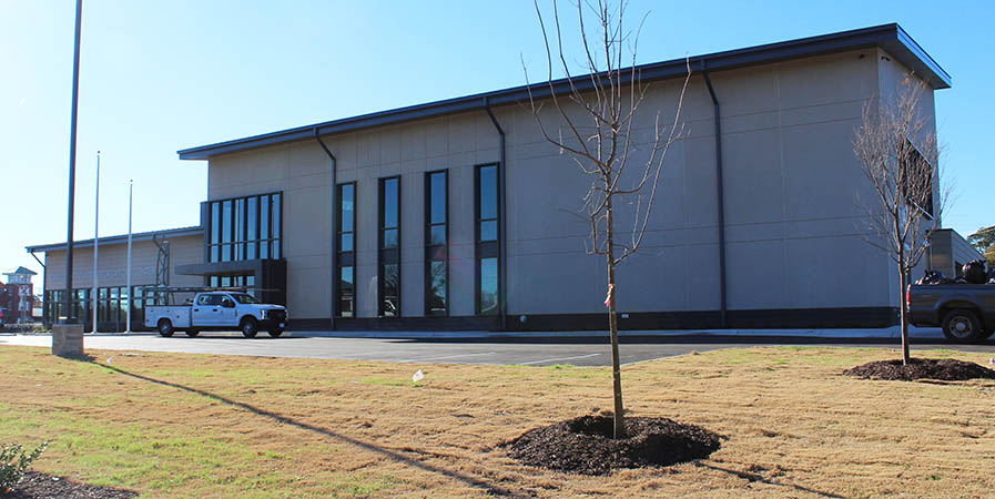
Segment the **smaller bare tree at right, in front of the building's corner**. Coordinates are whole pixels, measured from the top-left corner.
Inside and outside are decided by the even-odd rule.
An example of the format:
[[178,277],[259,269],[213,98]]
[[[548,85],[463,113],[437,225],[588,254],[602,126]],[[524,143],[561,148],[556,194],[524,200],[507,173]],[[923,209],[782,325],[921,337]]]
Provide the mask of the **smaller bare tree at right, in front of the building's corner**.
[[897,264],[902,361],[908,356],[908,305],[905,289],[910,273],[928,247],[930,234],[940,228],[946,201],[940,185],[940,147],[932,120],[923,115],[920,100],[925,83],[910,77],[896,89],[894,100],[875,100],[864,106],[853,152],[874,193],[864,204],[866,241]]

